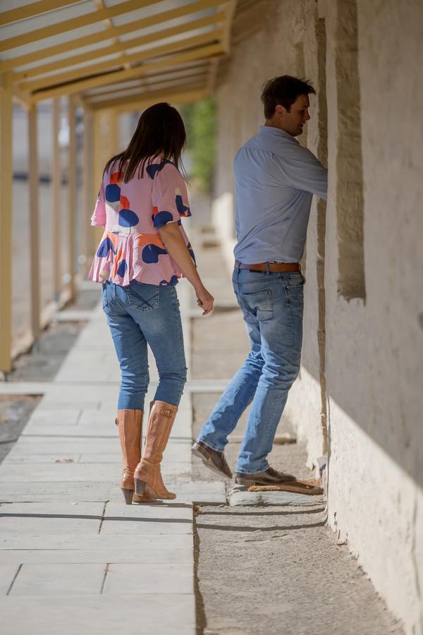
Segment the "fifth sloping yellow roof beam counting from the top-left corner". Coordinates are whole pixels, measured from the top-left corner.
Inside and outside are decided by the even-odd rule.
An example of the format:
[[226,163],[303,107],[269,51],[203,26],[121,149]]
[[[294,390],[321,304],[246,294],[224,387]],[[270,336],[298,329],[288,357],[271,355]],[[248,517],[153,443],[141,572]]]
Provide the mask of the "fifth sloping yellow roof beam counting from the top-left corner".
[[[215,40],[219,41],[222,36],[223,31],[221,29],[216,29],[214,31],[202,33],[201,35],[188,37],[186,40],[171,42],[171,44],[162,44],[160,47],[154,47],[152,49],[147,49],[146,51],[133,53],[132,55],[126,55],[125,62],[140,62],[145,59],[152,59],[161,55],[171,54],[176,51],[188,49],[190,47],[197,46],[198,44],[210,44]],[[67,73],[49,75],[38,80],[33,80],[32,82],[22,82],[20,83],[19,88],[22,91],[39,90],[43,89],[44,87],[55,86],[75,79],[83,78],[84,76],[89,78],[92,77],[92,75],[99,73],[100,71],[108,71],[109,69],[116,68],[118,66],[122,66],[122,61],[120,59],[109,59],[107,61],[98,62],[97,64],[92,64],[91,66],[75,68],[75,70],[68,71]]]

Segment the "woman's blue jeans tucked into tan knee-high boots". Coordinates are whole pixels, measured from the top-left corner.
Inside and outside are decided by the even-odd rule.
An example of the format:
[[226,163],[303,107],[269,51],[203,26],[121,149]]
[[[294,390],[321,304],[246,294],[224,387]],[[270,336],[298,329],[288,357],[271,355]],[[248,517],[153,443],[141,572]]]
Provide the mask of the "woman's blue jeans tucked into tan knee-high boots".
[[147,344],[159,371],[154,400],[178,406],[187,368],[175,287],[106,282],[102,305],[121,366],[118,410],[144,410],[149,383]]

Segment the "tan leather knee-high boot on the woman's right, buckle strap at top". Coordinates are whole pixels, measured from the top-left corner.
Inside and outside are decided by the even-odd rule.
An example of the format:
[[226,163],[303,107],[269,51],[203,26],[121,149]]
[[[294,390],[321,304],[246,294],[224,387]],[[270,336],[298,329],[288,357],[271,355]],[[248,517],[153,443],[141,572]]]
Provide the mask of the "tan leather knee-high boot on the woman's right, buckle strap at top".
[[144,452],[134,472],[137,495],[142,495],[147,486],[149,490],[152,490],[152,495],[157,498],[166,500],[176,498],[176,494],[168,492],[164,486],[160,464],[177,412],[177,406],[166,404],[165,401],[152,402]]

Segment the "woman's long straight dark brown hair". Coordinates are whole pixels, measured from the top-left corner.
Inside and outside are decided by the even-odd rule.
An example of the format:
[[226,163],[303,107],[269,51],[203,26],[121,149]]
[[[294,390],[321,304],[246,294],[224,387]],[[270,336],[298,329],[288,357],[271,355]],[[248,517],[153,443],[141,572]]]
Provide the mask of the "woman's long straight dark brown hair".
[[126,150],[111,157],[104,171],[117,166],[116,171],[123,172],[123,181],[128,183],[136,171],[138,178],[142,177],[147,159],[158,155],[163,155],[162,160],[168,159],[180,169],[180,154],[185,140],[185,126],[176,108],[165,102],[154,104],[140,116]]

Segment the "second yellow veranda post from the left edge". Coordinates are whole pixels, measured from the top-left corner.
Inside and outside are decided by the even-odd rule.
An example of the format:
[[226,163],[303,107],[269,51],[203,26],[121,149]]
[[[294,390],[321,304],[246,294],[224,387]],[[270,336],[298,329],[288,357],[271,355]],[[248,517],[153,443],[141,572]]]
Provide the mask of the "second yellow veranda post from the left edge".
[[31,281],[31,331],[39,337],[39,218],[38,218],[38,140],[37,104],[28,111],[28,147],[30,167],[30,281]]

